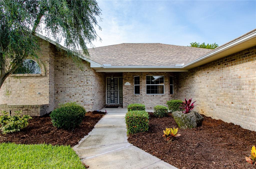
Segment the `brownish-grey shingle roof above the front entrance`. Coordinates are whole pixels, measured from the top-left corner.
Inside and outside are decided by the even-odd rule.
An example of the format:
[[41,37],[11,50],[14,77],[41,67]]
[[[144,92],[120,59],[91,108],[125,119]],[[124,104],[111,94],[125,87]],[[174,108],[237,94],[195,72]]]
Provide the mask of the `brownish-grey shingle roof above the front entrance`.
[[175,66],[186,64],[211,49],[162,43],[122,43],[89,49],[90,59],[111,66]]

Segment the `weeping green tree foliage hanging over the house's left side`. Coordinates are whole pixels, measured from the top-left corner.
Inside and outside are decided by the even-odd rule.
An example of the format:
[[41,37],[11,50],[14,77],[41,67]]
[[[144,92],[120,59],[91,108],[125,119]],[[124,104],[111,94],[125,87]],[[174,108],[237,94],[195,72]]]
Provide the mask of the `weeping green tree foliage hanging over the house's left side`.
[[[40,59],[36,32],[69,49],[66,55],[81,63],[79,49],[89,56],[86,44],[98,39],[101,9],[95,0],[0,0],[0,88],[27,57]],[[80,47],[80,48],[79,48]]]

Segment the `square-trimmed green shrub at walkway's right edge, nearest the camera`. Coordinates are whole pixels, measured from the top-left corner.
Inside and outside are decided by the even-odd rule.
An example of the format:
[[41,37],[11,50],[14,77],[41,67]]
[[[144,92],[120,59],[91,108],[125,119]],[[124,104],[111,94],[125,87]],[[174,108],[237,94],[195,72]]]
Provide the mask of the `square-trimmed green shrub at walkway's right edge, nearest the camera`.
[[148,113],[146,111],[129,111],[125,115],[127,134],[148,130]]

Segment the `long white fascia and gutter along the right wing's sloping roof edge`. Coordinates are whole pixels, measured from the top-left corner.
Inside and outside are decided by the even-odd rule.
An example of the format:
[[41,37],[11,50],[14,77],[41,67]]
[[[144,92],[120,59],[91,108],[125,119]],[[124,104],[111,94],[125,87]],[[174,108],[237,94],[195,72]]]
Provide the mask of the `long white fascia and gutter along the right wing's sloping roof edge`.
[[211,57],[213,55],[216,55],[218,53],[224,52],[224,51],[228,50],[229,48],[232,48],[232,47],[234,47],[236,45],[239,45],[240,43],[243,43],[243,42],[248,41],[248,40],[250,40],[252,38],[255,38],[255,37],[256,37],[256,32],[252,32],[252,33],[246,35],[245,37],[243,37],[241,39],[238,39],[238,40],[236,40],[234,42],[231,42],[231,43],[229,43],[229,44],[227,44],[225,46],[222,46],[222,47],[220,47],[217,50],[214,50],[214,51],[212,51],[212,52],[210,52],[210,53],[208,53],[208,54],[206,54],[204,56],[201,56],[201,57],[197,58],[196,60],[194,60],[192,62],[189,62],[189,63],[185,64],[184,66],[182,66],[182,68],[186,68],[187,66],[193,65],[193,64],[195,64],[197,62],[200,62],[200,61],[202,61],[204,59],[207,59],[207,58],[209,58],[209,57]]

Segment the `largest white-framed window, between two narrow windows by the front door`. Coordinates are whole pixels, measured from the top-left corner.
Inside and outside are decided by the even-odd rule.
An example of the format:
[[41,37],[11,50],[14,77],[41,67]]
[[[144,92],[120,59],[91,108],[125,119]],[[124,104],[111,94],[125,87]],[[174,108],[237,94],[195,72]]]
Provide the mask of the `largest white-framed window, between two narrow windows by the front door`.
[[146,76],[146,94],[164,94],[164,76]]

